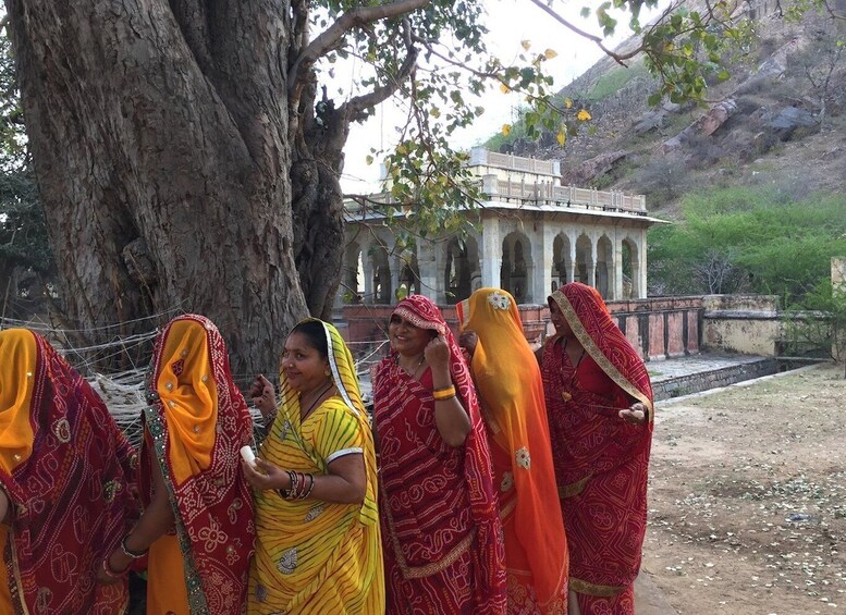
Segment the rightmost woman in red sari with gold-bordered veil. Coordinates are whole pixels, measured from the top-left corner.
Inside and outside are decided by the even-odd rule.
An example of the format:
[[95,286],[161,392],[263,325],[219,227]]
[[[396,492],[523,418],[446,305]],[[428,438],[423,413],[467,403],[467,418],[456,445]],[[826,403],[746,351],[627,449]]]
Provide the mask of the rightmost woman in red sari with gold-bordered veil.
[[541,372],[571,612],[630,614],[647,522],[652,386],[596,288],[565,284],[549,305],[556,334],[541,350]]

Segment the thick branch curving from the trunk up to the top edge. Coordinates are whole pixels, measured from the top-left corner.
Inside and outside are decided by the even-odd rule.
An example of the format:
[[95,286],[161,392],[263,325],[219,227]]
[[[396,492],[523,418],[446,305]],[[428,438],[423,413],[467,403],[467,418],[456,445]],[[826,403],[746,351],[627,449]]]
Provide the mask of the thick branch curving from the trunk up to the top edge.
[[347,11],[335,23],[321,33],[308,47],[294,60],[287,72],[287,91],[294,94],[298,88],[298,81],[311,64],[319,58],[338,48],[343,41],[344,35],[356,26],[378,22],[380,20],[397,17],[421,9],[431,0],[397,0],[380,7],[361,7]]

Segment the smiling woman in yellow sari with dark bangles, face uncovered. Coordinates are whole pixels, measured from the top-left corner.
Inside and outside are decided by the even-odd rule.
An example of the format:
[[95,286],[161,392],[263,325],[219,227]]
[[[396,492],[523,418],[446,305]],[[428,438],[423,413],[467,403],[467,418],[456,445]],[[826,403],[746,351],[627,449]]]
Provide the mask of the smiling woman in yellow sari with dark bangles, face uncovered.
[[255,467],[249,613],[384,612],[376,454],[353,357],[329,323],[285,341],[278,416],[263,377],[250,395],[269,422]]

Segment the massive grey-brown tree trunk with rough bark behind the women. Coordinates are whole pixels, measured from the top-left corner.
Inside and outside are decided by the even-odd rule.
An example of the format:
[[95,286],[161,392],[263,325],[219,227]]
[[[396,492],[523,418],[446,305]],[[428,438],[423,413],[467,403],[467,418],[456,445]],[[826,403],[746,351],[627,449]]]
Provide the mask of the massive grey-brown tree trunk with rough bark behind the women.
[[[299,259],[304,278],[322,262],[329,286],[342,249],[334,235],[294,235],[289,173],[308,152],[292,160],[287,2],[5,3],[66,317],[131,333],[150,315],[204,313],[242,382],[274,373],[284,334],[307,313],[295,246],[333,244],[334,260]],[[336,177],[315,164],[309,202],[323,205],[312,216],[340,232]],[[297,216],[309,210],[303,194]],[[320,315],[326,293],[308,288],[309,305],[323,294]]]

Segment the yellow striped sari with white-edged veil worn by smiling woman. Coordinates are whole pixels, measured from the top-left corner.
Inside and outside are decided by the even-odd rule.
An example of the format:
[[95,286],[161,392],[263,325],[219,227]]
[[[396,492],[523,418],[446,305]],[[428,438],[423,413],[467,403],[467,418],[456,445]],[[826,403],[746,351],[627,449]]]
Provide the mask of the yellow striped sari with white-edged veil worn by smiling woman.
[[279,414],[259,457],[285,470],[323,476],[333,460],[360,454],[367,488],[360,504],[290,501],[277,490],[256,491],[258,540],[248,612],[378,614],[384,611],[384,570],[373,438],[343,337],[328,322],[307,321],[323,327],[338,395],[303,421],[299,393],[281,370]]

